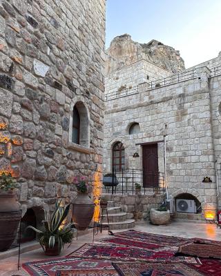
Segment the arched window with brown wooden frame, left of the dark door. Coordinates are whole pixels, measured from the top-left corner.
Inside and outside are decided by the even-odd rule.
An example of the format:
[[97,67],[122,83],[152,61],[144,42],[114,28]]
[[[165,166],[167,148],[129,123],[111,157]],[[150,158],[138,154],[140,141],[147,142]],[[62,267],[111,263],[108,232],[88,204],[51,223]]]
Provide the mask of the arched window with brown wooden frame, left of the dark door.
[[117,142],[113,146],[113,169],[123,170],[125,165],[124,145]]

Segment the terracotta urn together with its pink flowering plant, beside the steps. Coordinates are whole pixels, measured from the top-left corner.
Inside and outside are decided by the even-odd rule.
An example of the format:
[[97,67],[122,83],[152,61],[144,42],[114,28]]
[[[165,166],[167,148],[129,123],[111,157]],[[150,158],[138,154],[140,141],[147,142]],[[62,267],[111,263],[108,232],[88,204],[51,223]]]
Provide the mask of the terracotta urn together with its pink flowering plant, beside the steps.
[[93,218],[95,204],[88,196],[88,184],[85,177],[75,177],[77,197],[73,200],[73,221],[78,230],[85,230]]

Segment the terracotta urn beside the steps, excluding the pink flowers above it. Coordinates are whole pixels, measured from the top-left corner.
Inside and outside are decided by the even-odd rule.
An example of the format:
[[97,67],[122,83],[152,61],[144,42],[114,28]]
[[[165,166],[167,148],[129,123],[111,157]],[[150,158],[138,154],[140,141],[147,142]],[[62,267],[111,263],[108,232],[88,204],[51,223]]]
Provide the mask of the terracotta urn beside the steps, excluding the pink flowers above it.
[[78,230],[85,230],[93,218],[95,204],[87,193],[78,193],[73,200],[73,221]]

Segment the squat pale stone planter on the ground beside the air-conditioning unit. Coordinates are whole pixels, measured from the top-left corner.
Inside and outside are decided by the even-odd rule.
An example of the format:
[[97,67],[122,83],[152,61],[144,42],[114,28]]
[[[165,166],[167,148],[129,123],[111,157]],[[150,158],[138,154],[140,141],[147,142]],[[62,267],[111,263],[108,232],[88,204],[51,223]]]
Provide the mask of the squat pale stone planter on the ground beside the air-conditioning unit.
[[160,206],[157,209],[151,208],[150,220],[151,224],[155,225],[169,224],[171,220],[170,211],[165,206]]

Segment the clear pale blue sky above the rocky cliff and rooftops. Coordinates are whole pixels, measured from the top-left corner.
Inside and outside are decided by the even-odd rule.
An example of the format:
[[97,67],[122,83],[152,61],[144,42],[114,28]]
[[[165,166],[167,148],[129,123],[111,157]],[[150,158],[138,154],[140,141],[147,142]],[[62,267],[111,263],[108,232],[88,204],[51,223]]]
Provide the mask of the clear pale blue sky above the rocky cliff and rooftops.
[[221,0],[107,0],[106,48],[117,35],[180,50],[186,68],[221,51]]

